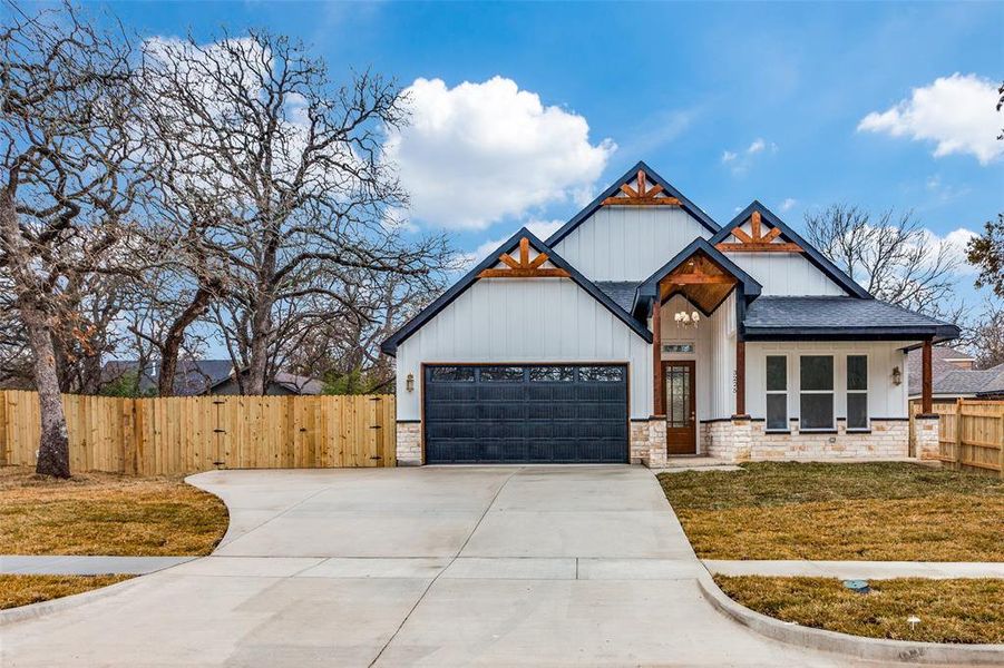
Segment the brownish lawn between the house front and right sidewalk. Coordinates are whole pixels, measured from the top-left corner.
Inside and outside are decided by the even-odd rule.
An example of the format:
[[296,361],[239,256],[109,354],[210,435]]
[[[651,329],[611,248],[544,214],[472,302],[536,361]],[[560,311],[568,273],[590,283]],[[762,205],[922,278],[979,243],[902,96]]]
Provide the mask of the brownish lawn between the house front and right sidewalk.
[[704,559],[1004,561],[1004,481],[912,463],[661,473]]

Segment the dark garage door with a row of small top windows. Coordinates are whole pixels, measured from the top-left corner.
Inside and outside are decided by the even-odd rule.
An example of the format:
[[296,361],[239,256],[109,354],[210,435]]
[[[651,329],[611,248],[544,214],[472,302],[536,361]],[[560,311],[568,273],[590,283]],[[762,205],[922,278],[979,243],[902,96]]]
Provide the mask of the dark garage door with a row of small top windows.
[[426,461],[623,463],[627,369],[427,366]]

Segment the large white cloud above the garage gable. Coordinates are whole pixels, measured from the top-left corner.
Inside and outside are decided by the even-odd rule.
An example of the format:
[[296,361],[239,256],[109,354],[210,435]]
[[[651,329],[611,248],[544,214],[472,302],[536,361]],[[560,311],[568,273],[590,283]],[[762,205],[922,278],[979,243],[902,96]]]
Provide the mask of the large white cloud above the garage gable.
[[494,77],[448,88],[408,87],[411,124],[391,131],[387,159],[411,196],[412,217],[438,227],[484,229],[554,202],[588,202],[616,145],[589,143],[583,116]]

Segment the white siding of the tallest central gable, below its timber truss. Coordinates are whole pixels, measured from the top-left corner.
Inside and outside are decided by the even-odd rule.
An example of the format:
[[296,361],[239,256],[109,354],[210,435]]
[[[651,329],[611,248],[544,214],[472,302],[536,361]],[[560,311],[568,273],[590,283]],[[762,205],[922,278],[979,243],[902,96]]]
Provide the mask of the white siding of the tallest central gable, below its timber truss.
[[711,232],[673,206],[604,206],[555,244],[591,281],[644,281]]

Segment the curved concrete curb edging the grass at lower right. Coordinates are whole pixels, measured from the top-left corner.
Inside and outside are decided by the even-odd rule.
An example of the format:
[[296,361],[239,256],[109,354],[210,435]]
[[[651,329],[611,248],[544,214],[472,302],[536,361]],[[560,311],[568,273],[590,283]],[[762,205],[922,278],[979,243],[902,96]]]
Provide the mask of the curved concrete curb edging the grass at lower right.
[[1001,666],[1004,662],[1004,645],[951,645],[946,642],[914,642],[861,638],[789,623],[750,610],[722,591],[709,572],[698,577],[704,598],[720,612],[742,626],[781,642],[838,652],[858,659],[899,661],[904,664],[949,666]]

